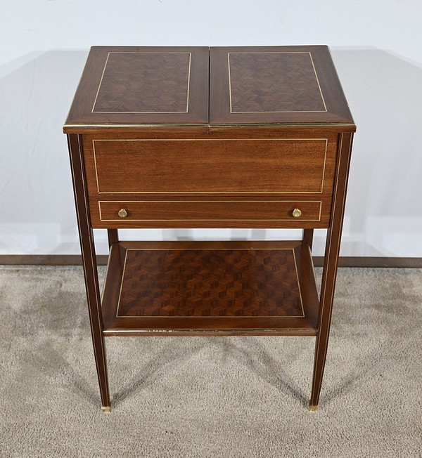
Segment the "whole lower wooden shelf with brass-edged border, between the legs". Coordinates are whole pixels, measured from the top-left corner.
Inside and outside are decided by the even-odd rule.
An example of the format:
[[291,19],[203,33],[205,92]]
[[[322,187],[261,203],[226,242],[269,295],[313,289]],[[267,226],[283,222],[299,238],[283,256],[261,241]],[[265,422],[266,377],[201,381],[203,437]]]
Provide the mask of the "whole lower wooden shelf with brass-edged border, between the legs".
[[104,335],[316,335],[309,246],[119,242],[102,299]]

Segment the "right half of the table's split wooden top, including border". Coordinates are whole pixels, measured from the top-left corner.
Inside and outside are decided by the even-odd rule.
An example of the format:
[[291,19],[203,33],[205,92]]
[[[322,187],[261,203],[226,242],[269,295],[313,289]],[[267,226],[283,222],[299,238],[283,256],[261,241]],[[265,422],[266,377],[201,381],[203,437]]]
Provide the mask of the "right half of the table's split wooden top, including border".
[[327,46],[210,48],[211,124],[354,124]]

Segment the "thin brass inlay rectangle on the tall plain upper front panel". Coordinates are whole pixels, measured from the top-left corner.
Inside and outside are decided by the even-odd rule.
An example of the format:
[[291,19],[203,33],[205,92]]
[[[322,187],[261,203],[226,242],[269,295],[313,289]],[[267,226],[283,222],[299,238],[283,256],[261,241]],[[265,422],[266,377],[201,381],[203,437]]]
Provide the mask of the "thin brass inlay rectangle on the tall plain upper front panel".
[[[95,142],[105,141],[321,141],[325,140],[324,164],[321,177],[321,188],[319,191],[100,191],[98,169],[96,162]],[[328,149],[328,138],[101,138],[92,140],[92,151],[94,153],[94,169],[98,194],[322,194],[324,192],[324,179]]]

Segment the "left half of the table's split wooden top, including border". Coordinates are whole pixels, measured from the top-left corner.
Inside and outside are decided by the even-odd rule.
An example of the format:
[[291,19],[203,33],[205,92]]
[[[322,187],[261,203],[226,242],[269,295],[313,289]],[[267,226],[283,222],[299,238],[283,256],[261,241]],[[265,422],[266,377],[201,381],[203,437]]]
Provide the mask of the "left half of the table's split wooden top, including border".
[[64,131],[207,124],[207,47],[93,46]]

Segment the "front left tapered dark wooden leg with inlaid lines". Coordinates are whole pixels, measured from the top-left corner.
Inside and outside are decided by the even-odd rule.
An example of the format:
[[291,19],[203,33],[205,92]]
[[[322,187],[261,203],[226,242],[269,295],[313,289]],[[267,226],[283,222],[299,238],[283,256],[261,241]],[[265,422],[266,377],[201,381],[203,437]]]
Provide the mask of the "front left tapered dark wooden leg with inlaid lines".
[[[73,190],[79,240],[84,266],[85,286],[87,288],[89,320],[91,323],[92,342],[100,385],[101,405],[104,412],[110,411],[110,394],[108,391],[108,375],[106,348],[103,337],[103,316],[101,314],[101,299],[98,286],[94,233],[91,228],[87,187],[84,182],[84,160],[82,152],[82,137],[76,134],[68,135],[70,164],[72,167]],[[117,231],[116,231],[117,232]]]

